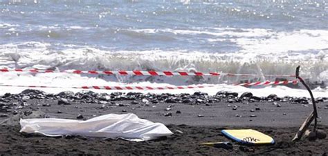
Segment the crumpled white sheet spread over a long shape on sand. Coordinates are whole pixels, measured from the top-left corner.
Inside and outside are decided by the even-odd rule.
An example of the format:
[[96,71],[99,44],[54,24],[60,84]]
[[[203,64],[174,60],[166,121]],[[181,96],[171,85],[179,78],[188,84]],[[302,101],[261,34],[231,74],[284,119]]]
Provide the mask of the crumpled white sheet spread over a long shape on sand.
[[44,118],[21,119],[19,123],[21,133],[40,133],[49,137],[82,135],[142,142],[173,134],[165,125],[140,119],[131,113],[102,115],[86,121]]

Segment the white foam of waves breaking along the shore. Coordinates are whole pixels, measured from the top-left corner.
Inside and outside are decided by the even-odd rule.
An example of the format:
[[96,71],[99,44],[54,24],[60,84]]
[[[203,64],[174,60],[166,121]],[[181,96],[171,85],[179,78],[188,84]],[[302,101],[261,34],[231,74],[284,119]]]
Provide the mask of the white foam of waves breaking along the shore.
[[[9,28],[9,27],[8,27]],[[44,29],[52,29],[45,27]],[[57,27],[54,27],[57,28]],[[80,26],[71,26],[80,29]],[[95,48],[74,44],[27,41],[3,43],[0,45],[0,68],[39,68],[56,70],[186,70],[200,72],[236,72],[250,74],[293,74],[295,67],[302,66],[301,75],[311,81],[328,83],[328,31],[293,30],[275,32],[266,29],[208,28],[208,30],[173,29],[131,29],[138,33],[172,33],[174,35],[210,35],[209,42],[230,41],[240,47],[232,53],[202,52],[183,49],[172,50],[114,50],[113,48]],[[53,47],[60,47],[55,48]],[[58,50],[60,49],[60,50]],[[270,93],[282,96],[307,96],[305,90],[286,87],[266,87],[250,89],[240,86],[228,86],[222,83],[236,83],[243,79],[274,80],[276,77],[89,77],[87,75],[30,75],[0,73],[2,84],[62,86],[107,86],[112,85],[189,85],[219,84],[210,89],[176,90],[173,92],[194,92],[200,90],[215,94],[218,90],[236,92],[251,91],[255,95],[266,96]],[[2,87],[3,88],[3,87]],[[1,93],[18,92],[23,88],[3,88]],[[43,88],[47,92],[59,92],[62,89]],[[67,90],[75,90],[69,89]],[[145,91],[148,92],[148,91]],[[150,92],[150,91],[149,91]],[[162,92],[162,91],[151,91]],[[172,92],[164,90],[163,92]],[[288,94],[287,94],[288,93]],[[327,96],[327,88],[317,89],[318,96]]]

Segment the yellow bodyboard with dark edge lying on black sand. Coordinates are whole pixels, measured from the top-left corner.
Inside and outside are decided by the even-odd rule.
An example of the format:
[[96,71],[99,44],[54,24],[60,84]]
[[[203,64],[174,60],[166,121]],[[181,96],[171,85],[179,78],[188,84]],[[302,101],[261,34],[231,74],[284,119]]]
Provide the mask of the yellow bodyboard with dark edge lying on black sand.
[[272,137],[260,133],[257,130],[221,130],[226,137],[242,144],[275,144]]

